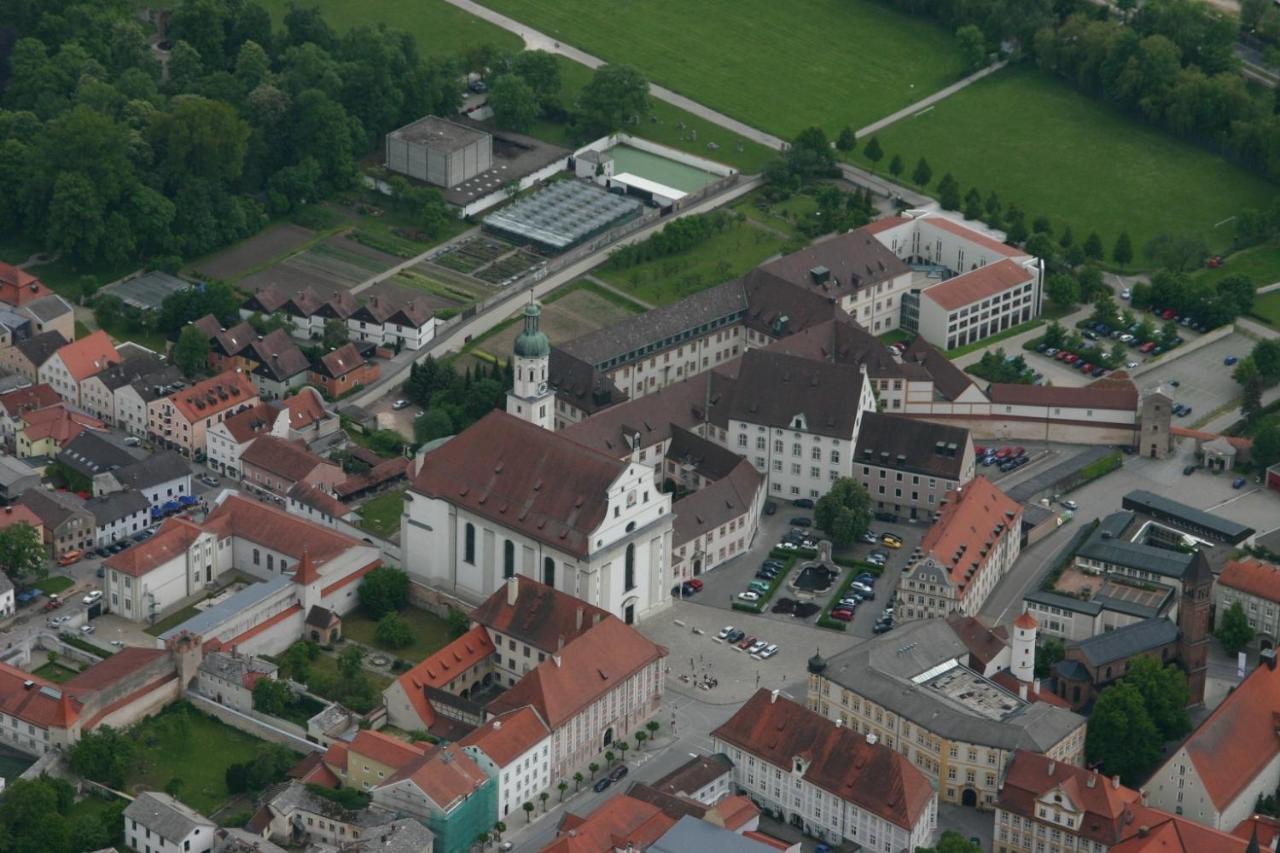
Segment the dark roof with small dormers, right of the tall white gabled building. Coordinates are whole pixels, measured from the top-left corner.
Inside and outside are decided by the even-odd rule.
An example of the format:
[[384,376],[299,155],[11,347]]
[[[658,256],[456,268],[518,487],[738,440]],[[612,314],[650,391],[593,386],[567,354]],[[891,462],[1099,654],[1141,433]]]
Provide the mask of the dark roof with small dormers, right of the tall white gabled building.
[[959,480],[968,443],[969,430],[963,426],[867,412],[858,430],[854,465],[877,465]]

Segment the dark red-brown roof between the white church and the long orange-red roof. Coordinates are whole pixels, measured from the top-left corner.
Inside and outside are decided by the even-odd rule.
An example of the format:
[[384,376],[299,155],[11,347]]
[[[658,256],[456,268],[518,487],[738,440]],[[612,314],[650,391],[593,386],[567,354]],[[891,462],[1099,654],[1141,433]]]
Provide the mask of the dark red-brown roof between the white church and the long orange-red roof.
[[[516,602],[508,603],[512,585]],[[541,652],[554,652],[561,639],[577,639],[604,619],[609,619],[608,611],[524,575],[508,578],[471,611],[472,622]]]

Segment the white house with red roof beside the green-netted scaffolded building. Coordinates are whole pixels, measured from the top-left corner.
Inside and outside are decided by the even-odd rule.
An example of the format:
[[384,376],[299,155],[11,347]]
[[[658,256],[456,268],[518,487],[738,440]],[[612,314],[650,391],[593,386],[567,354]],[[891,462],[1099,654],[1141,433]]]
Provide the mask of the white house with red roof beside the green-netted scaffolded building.
[[521,803],[536,803],[540,793],[550,793],[552,733],[531,706],[486,720],[458,747],[493,780],[498,820],[511,820]]

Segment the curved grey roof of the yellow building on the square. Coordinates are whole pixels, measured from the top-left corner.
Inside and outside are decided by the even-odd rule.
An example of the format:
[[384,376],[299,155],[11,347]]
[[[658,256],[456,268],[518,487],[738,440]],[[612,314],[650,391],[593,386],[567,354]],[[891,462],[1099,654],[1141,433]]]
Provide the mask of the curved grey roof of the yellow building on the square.
[[977,716],[911,681],[940,663],[968,658],[969,647],[946,620],[928,619],[836,654],[823,678],[951,740],[1044,752],[1084,725],[1080,715],[1047,702],[1019,703],[998,721]]

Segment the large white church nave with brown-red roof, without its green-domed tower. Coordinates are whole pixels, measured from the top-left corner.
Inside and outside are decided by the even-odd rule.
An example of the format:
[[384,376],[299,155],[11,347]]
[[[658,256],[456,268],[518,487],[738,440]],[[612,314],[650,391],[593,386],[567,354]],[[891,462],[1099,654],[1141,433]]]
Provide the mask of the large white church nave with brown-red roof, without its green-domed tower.
[[474,601],[520,574],[628,624],[669,603],[671,497],[648,465],[495,411],[429,451],[411,480],[401,542],[424,583]]

